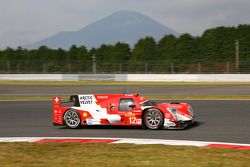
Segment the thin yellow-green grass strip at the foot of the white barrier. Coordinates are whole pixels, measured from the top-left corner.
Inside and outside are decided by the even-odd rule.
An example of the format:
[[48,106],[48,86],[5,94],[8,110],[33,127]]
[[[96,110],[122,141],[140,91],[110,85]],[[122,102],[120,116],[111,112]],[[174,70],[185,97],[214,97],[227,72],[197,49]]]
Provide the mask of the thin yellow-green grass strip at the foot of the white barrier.
[[0,81],[0,85],[230,85],[250,82]]

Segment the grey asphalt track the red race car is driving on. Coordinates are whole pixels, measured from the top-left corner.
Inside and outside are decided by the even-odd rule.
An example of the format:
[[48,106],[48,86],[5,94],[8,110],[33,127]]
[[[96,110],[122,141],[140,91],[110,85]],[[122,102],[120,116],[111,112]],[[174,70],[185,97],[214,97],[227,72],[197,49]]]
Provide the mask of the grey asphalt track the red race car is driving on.
[[0,101],[0,137],[114,137],[250,143],[250,101],[189,100],[200,125],[185,130],[52,125],[50,101]]

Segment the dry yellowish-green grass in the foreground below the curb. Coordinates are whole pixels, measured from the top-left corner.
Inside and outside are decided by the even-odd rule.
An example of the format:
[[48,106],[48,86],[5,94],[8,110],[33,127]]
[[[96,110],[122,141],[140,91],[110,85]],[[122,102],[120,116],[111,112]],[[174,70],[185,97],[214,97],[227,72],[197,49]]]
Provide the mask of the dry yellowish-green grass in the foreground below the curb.
[[8,167],[247,167],[250,151],[105,143],[0,143]]

